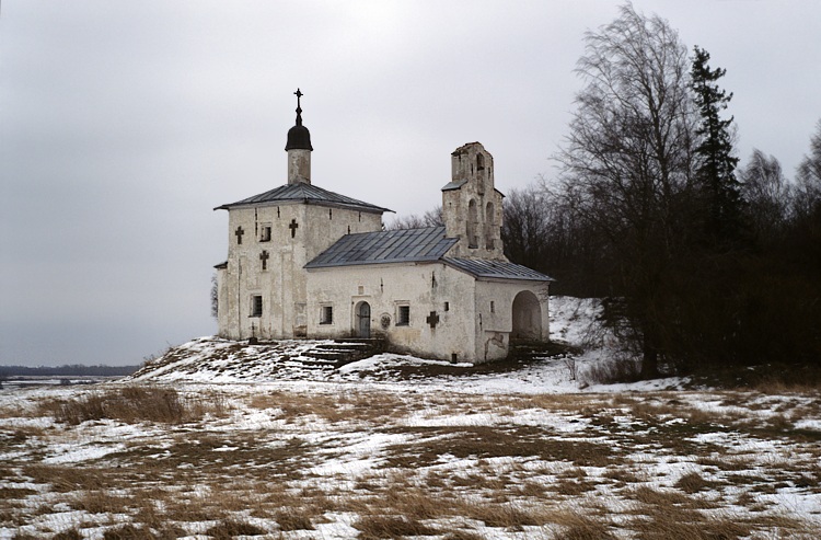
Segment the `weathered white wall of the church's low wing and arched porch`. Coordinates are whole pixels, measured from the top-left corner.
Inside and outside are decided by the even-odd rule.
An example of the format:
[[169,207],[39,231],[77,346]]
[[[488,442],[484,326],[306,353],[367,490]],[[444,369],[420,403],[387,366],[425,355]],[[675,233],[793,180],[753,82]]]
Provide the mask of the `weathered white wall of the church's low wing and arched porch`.
[[[308,335],[348,337],[358,333],[356,308],[371,308],[371,333],[392,348],[426,358],[490,361],[508,354],[513,300],[521,291],[539,299],[540,337],[547,340],[547,285],[514,280],[476,280],[443,263],[381,264],[315,268],[308,273]],[[407,326],[396,325],[398,306],[410,308]],[[322,322],[322,309],[333,321]],[[428,317],[436,312],[431,328]],[[386,326],[382,319],[390,320]],[[535,337],[535,336],[534,336]]]

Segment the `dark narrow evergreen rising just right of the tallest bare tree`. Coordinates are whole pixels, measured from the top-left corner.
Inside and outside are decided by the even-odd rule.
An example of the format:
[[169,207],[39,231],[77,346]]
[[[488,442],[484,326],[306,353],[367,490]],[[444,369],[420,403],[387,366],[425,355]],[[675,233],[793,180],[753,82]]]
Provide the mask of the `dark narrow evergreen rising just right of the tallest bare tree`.
[[701,116],[695,131],[698,137],[695,179],[706,199],[706,232],[719,244],[727,244],[737,240],[742,230],[742,199],[735,175],[738,158],[732,156],[733,117],[722,119],[720,116],[732,93],[728,94],[716,83],[726,70],[709,68],[709,53],[698,46],[694,53],[691,84]]

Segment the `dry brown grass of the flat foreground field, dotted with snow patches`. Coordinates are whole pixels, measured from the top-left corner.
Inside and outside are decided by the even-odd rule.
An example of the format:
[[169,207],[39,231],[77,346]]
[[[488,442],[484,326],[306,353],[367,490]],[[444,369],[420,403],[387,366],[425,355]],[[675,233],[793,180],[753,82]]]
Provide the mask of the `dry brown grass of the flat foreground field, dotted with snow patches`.
[[[124,390],[78,390],[41,409],[57,416],[65,407],[73,416],[0,438],[0,450],[23,456],[0,464],[0,527],[36,521],[60,503],[86,513],[89,522],[62,532],[43,528],[31,538],[60,533],[73,540],[92,527],[105,529],[106,538],[176,538],[201,533],[203,522],[212,525],[207,533],[213,538],[313,538],[319,533],[310,531],[337,519],[336,513],[357,515],[363,539],[818,537],[816,525],[780,516],[777,497],[763,496],[821,492],[821,443],[794,433],[794,412],[819,407],[805,395],[773,412],[766,397],[743,392],[710,394],[715,405],[703,410],[705,393],[278,391],[226,398]],[[123,402],[149,397],[181,409],[157,406],[160,412],[140,412],[139,418],[122,410]],[[285,422],[243,430],[209,420],[229,410],[264,411]],[[162,426],[141,437],[106,439],[107,423],[82,420],[95,415]],[[460,425],[437,425],[455,415]],[[484,423],[463,425],[471,415]],[[540,415],[556,423],[533,423]],[[204,422],[190,423],[197,418]],[[774,453],[704,443],[742,437],[776,439]],[[84,444],[116,451],[67,464],[46,459],[55,456],[51,445]],[[359,472],[346,471],[348,466]],[[743,507],[741,517],[725,515],[738,512],[735,506]]]

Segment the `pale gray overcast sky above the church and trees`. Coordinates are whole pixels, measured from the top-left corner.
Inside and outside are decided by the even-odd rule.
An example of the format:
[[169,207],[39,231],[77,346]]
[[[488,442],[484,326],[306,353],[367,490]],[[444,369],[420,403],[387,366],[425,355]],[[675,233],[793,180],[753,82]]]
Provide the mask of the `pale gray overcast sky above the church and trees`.
[[[821,2],[634,4],[727,69],[742,164],[760,148],[791,177],[821,118]],[[212,208],[286,183],[298,87],[313,183],[398,216],[440,203],[465,142],[502,193],[552,176],[582,34],[616,5],[4,0],[0,365],[137,364],[215,333]]]

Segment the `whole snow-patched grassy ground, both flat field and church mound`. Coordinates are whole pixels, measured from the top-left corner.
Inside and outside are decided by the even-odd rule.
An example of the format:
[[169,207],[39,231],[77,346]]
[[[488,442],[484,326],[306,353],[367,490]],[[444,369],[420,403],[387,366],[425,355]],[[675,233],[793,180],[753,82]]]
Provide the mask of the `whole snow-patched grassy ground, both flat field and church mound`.
[[[581,344],[594,307],[554,303]],[[197,340],[153,378],[0,393],[0,538],[821,536],[818,391],[594,384],[590,344],[426,377],[279,346],[279,370]]]

